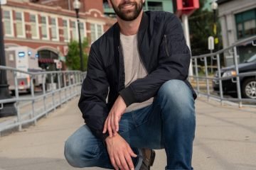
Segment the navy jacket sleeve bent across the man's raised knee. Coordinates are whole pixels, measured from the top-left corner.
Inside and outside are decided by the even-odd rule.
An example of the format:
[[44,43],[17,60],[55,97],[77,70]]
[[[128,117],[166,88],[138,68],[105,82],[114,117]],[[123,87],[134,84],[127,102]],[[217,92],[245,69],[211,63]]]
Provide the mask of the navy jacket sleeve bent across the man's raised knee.
[[137,79],[119,91],[127,106],[156,96],[166,81],[186,80],[188,77],[191,52],[186,45],[181,22],[174,15],[169,15],[166,20],[166,29],[159,46],[158,66],[143,79]]

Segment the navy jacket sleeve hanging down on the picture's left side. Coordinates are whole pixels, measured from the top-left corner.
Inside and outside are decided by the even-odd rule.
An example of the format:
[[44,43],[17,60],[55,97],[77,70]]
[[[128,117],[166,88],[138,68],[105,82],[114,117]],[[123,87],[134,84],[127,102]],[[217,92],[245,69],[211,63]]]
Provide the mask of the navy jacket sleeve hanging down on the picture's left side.
[[108,115],[106,104],[108,86],[102,60],[92,45],[87,64],[87,76],[82,82],[78,107],[82,112],[82,118],[85,119],[86,125],[101,140],[105,140],[108,136],[107,134],[102,134]]

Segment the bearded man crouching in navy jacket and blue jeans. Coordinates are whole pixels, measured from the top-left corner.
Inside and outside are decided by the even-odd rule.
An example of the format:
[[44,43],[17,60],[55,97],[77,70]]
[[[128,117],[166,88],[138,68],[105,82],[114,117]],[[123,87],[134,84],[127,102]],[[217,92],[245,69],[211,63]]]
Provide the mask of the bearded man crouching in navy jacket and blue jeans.
[[65,143],[72,166],[150,169],[151,149],[164,148],[166,169],[193,169],[190,51],[178,18],[143,3],[109,0],[117,23],[91,46],[78,103],[86,125]]

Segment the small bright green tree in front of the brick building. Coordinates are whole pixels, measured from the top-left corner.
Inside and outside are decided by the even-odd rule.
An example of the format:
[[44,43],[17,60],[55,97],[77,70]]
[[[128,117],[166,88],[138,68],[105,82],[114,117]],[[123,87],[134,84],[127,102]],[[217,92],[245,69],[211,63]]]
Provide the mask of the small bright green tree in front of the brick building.
[[[85,38],[82,41],[82,49],[83,49],[82,50],[82,59],[83,59],[83,67],[84,67],[84,70],[82,70],[82,71],[87,70],[88,55],[84,51],[86,47],[88,47],[88,41]],[[66,65],[71,70],[81,70],[81,68],[80,68],[79,42],[76,41],[76,40],[72,40],[68,43],[68,55],[67,55]]]

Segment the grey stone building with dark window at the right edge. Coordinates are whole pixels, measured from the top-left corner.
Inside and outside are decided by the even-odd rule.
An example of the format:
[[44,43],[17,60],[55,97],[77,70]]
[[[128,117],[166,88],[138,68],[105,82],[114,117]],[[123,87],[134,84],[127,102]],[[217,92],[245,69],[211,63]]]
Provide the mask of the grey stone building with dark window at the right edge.
[[[218,0],[218,16],[223,36],[223,47],[256,35],[256,1],[255,0]],[[238,47],[239,61],[244,62],[256,54],[252,43]],[[233,55],[225,54],[225,64],[233,64]]]

